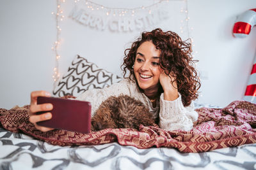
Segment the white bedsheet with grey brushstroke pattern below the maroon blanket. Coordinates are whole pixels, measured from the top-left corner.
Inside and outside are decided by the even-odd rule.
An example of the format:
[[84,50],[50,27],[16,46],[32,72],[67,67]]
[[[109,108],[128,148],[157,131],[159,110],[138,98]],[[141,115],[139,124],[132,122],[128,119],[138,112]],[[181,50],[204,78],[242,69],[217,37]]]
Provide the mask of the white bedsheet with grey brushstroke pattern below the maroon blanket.
[[256,144],[202,153],[118,143],[54,146],[0,128],[0,169],[256,169]]

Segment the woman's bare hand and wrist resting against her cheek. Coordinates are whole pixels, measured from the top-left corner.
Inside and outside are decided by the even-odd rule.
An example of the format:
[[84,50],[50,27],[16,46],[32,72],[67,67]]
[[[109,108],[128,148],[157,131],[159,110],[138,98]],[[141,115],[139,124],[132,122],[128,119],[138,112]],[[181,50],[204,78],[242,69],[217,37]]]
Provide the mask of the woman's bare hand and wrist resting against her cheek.
[[164,90],[164,100],[174,101],[179,97],[175,75],[170,73],[168,76],[167,74],[164,73],[164,70],[163,70],[159,76],[159,81]]

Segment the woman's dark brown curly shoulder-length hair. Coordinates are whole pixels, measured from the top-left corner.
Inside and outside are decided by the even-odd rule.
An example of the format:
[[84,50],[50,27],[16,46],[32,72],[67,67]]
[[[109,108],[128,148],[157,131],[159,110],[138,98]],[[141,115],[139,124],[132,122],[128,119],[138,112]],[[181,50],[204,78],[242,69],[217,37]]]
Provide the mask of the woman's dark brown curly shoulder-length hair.
[[198,60],[193,60],[191,56],[191,43],[187,43],[188,40],[182,41],[175,32],[163,32],[159,28],[151,32],[142,32],[141,37],[136,39],[131,48],[127,48],[124,52],[124,63],[121,66],[122,71],[124,71],[124,78],[125,74],[129,73],[129,79],[136,81],[132,66],[137,49],[145,41],[152,41],[156,49],[161,50],[160,67],[164,69],[164,73],[167,75],[170,73],[175,75],[177,88],[182,96],[182,103],[184,106],[189,106],[192,100],[198,98],[198,89],[201,86],[195,69],[195,62]]

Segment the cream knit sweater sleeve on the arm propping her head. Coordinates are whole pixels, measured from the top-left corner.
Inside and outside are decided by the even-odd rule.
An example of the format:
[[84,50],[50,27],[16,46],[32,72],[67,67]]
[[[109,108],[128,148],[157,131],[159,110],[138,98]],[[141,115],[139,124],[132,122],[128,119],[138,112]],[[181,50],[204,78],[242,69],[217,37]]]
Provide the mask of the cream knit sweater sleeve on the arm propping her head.
[[175,101],[165,101],[164,94],[160,96],[159,127],[166,131],[183,130],[193,128],[193,122],[198,118],[198,113],[191,103],[188,107],[182,104],[181,96]]

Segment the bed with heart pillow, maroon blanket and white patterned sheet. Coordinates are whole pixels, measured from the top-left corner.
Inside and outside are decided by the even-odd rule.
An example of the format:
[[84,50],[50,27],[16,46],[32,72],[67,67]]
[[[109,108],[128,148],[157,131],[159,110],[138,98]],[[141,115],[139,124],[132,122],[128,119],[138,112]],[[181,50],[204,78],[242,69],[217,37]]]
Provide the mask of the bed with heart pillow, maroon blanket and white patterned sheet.
[[[76,55],[53,94],[77,96],[120,81]],[[36,131],[29,105],[0,109],[0,169],[256,169],[256,106],[195,103],[193,130],[104,129],[90,134]]]

